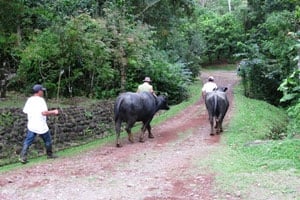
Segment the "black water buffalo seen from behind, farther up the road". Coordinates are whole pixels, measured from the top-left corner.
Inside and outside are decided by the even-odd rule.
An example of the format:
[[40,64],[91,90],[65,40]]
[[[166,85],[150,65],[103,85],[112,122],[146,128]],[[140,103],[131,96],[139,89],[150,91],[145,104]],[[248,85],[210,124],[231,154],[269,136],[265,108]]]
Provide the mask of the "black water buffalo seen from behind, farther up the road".
[[229,107],[226,91],[227,87],[215,89],[205,96],[205,105],[208,111],[209,122],[211,126],[210,135],[214,135],[214,120],[216,133],[219,134],[223,131],[222,123]]

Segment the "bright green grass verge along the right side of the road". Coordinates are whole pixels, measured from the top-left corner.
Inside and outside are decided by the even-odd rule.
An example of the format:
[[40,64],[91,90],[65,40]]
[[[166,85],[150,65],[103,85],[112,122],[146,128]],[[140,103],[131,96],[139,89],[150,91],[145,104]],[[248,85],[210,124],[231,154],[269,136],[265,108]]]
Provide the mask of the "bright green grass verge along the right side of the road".
[[237,110],[224,142],[251,160],[254,168],[300,170],[300,140],[269,139],[270,135],[285,131],[286,112],[263,101],[246,98],[240,88],[236,89],[235,102]]

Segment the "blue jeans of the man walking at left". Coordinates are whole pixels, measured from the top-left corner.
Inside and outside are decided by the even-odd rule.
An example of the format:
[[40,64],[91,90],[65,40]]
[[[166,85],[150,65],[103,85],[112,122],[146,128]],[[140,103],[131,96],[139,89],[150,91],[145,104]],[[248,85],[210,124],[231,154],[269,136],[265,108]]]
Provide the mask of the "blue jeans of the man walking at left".
[[27,151],[37,135],[39,135],[43,139],[45,143],[47,155],[52,156],[52,140],[51,140],[50,131],[43,134],[37,134],[28,130],[26,134],[26,138],[23,143],[21,155],[20,155],[22,159],[27,160]]

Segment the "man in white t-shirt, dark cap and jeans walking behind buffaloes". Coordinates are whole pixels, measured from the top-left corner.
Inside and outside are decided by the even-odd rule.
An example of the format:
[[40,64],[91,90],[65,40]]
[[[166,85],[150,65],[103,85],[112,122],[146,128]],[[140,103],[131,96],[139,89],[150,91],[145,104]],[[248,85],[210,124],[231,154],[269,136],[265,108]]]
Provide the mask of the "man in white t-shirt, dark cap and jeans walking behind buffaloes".
[[47,157],[56,157],[52,152],[52,139],[46,120],[49,115],[57,115],[58,110],[48,110],[46,101],[43,98],[46,88],[37,84],[34,85],[32,89],[33,95],[27,99],[23,108],[23,112],[27,114],[28,120],[27,134],[19,159],[23,164],[27,163],[27,151],[37,135],[39,135],[45,143]]

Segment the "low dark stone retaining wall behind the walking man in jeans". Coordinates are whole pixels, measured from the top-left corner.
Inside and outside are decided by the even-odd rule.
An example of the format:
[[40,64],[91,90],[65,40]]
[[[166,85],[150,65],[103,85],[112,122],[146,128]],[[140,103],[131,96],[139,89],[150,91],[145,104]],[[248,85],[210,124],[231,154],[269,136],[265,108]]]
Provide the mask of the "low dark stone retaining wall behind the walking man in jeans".
[[[49,116],[47,119],[54,151],[114,133],[112,101],[101,101],[89,107],[61,108],[58,116]],[[0,109],[0,166],[17,161],[26,135],[26,124],[27,116],[21,108]],[[44,154],[44,143],[41,138],[36,137],[28,156]]]

